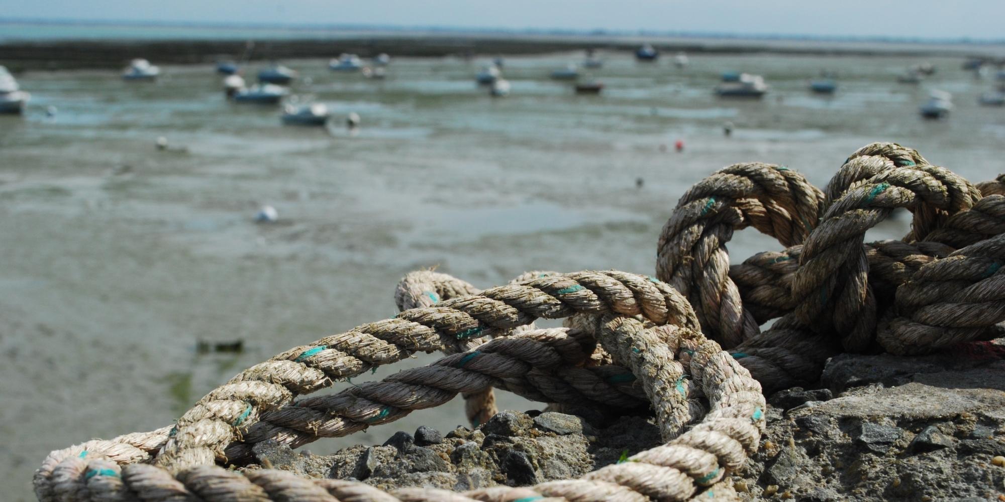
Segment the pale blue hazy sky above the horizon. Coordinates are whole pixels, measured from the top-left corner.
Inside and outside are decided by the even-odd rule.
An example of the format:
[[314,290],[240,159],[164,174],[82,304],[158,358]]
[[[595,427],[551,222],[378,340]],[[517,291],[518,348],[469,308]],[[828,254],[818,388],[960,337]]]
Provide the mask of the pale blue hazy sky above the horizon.
[[0,0],[0,17],[1005,38],[1005,0]]

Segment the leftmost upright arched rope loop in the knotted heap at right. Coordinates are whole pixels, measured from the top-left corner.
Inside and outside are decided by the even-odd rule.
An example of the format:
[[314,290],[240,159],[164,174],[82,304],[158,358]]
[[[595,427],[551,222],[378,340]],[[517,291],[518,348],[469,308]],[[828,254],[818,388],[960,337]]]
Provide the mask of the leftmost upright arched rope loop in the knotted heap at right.
[[729,277],[726,244],[754,226],[784,246],[802,243],[816,226],[823,194],[788,168],[737,164],[718,171],[680,198],[663,226],[656,277],[691,302],[711,338],[733,346],[758,332]]

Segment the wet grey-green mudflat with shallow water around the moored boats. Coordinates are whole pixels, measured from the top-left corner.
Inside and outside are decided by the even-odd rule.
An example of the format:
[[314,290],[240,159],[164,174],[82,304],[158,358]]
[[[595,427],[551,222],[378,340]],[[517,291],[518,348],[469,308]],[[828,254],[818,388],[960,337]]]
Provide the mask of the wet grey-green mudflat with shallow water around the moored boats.
[[[991,82],[960,70],[961,59],[928,59],[939,73],[918,86],[895,75],[920,58],[770,54],[692,56],[684,69],[608,54],[592,71],[608,85],[601,96],[547,78],[581,57],[508,58],[513,94],[502,99],[472,82],[482,61],[399,59],[384,81],[287,61],[307,77],[296,94],[337,117],[362,115],[356,135],[341,118],[328,130],[284,128],[277,107],[228,103],[207,65],[164,67],[156,83],[19,75],[31,107],[0,116],[8,500],[33,500],[30,474],[50,450],[169,424],[243,367],[393,315],[394,285],[410,270],[437,266],[481,287],[531,269],[650,274],[677,198],[729,164],[784,164],[822,187],[855,149],[894,141],[971,181],[1005,170],[1005,109],[977,105]],[[838,73],[832,97],[806,88],[824,68]],[[716,98],[730,69],[764,74],[770,94]],[[919,117],[929,88],[954,93],[948,120]],[[730,139],[725,120],[737,127]],[[171,151],[154,149],[161,136]],[[261,204],[280,222],[255,225]],[[869,238],[904,232],[901,218]],[[730,249],[741,261],[780,247],[748,231]],[[195,348],[233,339],[243,353]],[[499,398],[504,408],[540,406]],[[308,448],[463,421],[455,400]]]

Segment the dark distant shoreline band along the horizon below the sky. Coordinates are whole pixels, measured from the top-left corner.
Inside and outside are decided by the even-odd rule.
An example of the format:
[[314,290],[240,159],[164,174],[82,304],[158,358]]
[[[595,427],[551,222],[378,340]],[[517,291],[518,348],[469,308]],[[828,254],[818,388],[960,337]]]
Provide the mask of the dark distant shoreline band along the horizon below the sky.
[[[799,55],[858,56],[983,56],[1005,57],[1003,44],[939,44],[773,38],[701,38],[643,35],[537,35],[443,33],[392,30],[347,31],[339,37],[254,39],[251,60],[327,58],[342,52],[363,57],[387,52],[392,56],[491,56],[583,50],[632,51],[651,43],[665,53],[742,54],[771,52]],[[0,64],[11,70],[122,67],[145,57],[155,63],[208,63],[221,57],[239,59],[245,39],[39,39],[0,40]]]

